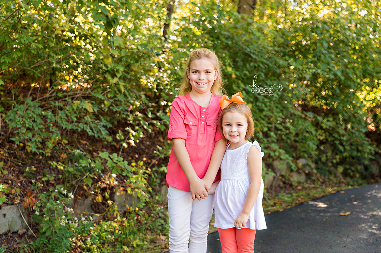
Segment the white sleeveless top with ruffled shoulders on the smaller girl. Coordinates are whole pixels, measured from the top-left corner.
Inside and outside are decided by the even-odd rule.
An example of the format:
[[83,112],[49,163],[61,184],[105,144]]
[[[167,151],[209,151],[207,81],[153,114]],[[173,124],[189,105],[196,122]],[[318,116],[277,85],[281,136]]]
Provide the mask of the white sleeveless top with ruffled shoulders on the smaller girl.
[[[244,207],[250,186],[247,154],[252,145],[258,148],[263,157],[264,153],[261,152],[262,148],[257,141],[247,142],[234,150],[228,150],[229,145],[226,147],[221,163],[221,181],[214,194],[214,226],[216,228],[233,228],[234,221]],[[245,228],[267,228],[262,207],[263,179],[261,181],[258,198],[250,211]]]

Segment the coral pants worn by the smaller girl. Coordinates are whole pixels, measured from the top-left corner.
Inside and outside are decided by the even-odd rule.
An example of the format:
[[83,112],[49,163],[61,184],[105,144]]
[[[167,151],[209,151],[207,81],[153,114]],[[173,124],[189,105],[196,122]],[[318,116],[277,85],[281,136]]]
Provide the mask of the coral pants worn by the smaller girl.
[[218,229],[222,253],[254,253],[256,230],[249,228]]

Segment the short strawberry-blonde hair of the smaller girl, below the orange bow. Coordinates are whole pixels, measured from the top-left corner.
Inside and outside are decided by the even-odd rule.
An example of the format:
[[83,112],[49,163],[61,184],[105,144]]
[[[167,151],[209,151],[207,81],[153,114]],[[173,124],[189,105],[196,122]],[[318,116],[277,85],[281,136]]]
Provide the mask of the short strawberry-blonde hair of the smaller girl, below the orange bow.
[[231,103],[228,106],[226,106],[225,109],[222,110],[220,115],[218,115],[218,128],[220,129],[221,134],[223,134],[222,130],[222,119],[227,112],[238,112],[245,116],[246,121],[248,123],[248,131],[245,135],[245,140],[249,140],[253,134],[254,134],[254,121],[252,112],[246,104],[238,104],[238,103]]

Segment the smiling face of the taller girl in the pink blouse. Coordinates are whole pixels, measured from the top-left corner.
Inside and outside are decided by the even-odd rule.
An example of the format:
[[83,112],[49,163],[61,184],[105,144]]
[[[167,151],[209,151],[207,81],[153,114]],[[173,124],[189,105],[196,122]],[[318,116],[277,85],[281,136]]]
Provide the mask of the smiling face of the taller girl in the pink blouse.
[[191,82],[192,91],[204,94],[210,93],[214,80],[217,79],[218,70],[207,59],[193,60],[188,70],[188,78]]

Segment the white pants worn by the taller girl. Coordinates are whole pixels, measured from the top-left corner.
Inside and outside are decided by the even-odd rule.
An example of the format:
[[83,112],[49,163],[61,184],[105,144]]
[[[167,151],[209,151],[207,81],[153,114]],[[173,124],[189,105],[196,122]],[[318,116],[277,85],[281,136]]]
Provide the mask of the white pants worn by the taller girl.
[[[193,200],[191,192],[169,186],[169,252],[206,253],[214,194]],[[189,251],[188,251],[189,241]]]

